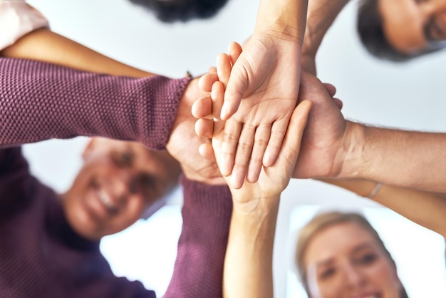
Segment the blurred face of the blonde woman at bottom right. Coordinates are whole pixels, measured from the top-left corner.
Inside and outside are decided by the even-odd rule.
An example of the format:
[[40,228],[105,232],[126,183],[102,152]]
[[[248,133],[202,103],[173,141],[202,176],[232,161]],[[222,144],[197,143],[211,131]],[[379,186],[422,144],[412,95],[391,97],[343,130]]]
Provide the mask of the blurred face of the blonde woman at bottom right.
[[398,298],[395,266],[360,225],[343,222],[318,232],[304,255],[311,298]]

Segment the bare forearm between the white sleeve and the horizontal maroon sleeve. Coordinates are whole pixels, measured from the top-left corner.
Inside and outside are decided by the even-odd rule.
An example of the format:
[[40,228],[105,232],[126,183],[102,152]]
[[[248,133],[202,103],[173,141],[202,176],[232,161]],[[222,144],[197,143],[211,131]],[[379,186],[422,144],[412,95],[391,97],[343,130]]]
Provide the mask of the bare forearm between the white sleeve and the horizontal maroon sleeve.
[[108,58],[49,29],[39,29],[23,36],[12,46],[1,51],[1,56],[45,61],[82,71],[115,76],[142,78],[152,75]]

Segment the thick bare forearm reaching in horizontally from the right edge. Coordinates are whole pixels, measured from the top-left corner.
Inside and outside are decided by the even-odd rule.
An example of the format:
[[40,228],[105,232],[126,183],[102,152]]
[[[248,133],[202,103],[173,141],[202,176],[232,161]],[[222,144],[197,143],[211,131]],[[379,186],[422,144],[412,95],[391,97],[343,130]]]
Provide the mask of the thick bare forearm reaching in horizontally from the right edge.
[[350,136],[338,178],[362,178],[446,192],[446,134],[348,123]]

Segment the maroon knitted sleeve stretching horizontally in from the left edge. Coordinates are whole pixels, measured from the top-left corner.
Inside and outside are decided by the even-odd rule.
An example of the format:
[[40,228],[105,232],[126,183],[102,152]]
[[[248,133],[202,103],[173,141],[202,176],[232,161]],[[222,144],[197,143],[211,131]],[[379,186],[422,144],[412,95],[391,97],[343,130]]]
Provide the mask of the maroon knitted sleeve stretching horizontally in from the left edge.
[[189,81],[0,58],[0,147],[85,135],[163,149]]

